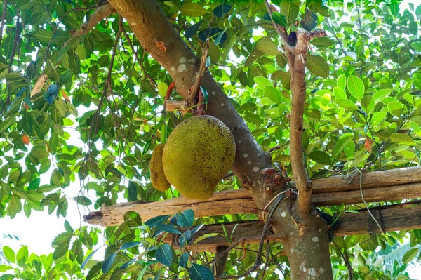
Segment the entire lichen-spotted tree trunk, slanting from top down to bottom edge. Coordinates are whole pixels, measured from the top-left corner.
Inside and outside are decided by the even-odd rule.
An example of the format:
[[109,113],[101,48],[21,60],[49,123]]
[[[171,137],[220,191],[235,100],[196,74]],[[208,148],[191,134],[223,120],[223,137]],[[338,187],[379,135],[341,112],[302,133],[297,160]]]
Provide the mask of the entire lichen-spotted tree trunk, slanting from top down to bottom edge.
[[[154,0],[109,0],[109,4],[127,20],[140,44],[171,74],[178,93],[189,101],[189,88],[196,81],[200,62],[168,21],[161,6]],[[210,93],[206,114],[223,121],[236,140],[236,158],[232,167],[235,175],[243,187],[250,189],[256,206],[265,208],[282,190],[279,187],[265,191],[267,175],[260,171],[272,168],[270,155],[255,141],[209,72],[203,75],[201,85]],[[326,222],[316,215],[309,215],[304,222],[295,222],[291,211],[294,203],[295,195],[291,193],[281,201],[273,215],[274,231],[286,236],[283,246],[291,263],[292,278],[332,279]]]

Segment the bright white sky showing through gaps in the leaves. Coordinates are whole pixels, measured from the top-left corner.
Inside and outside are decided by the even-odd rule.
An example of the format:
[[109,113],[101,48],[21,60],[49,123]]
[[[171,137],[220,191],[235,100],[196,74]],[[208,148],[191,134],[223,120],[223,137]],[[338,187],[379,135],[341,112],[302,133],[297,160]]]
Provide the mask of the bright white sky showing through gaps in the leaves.
[[[416,8],[417,5],[421,4],[421,1],[403,1],[403,3],[401,3],[400,5],[402,11],[403,9],[408,8],[408,3],[415,4]],[[81,107],[79,107],[78,110],[79,116],[81,116],[81,114],[83,114],[83,112],[81,112]],[[67,132],[70,133],[70,135],[79,135],[79,133],[75,133],[74,130],[67,130]],[[72,145],[77,145],[78,147],[81,147],[81,145],[83,145],[77,137],[71,137],[70,139],[71,140],[69,141],[72,142]],[[43,176],[44,183],[48,183],[50,180],[50,175],[46,173]],[[43,180],[43,178],[41,178],[41,180]],[[41,185],[42,184],[43,182],[41,181]],[[78,195],[79,188],[79,179],[76,179],[76,182],[72,182],[71,185],[65,188],[63,191],[68,197],[74,197]],[[95,196],[91,196],[90,199],[93,201],[94,197]],[[79,225],[86,225],[82,220],[83,215],[88,213],[88,211],[84,209],[83,206],[78,206],[78,204],[76,204],[75,201],[69,199],[68,202],[69,207],[67,209],[66,218],[63,218],[61,215],[60,218],[57,218],[55,211],[51,215],[48,215],[47,211],[37,212],[33,210],[29,219],[26,218],[23,211],[21,213],[18,213],[18,215],[16,215],[16,217],[13,219],[9,218],[8,216],[6,216],[5,218],[0,218],[0,245],[3,244],[11,246],[11,248],[13,248],[15,252],[18,251],[20,246],[26,245],[29,247],[29,253],[36,253],[37,255],[53,253],[51,242],[53,241],[55,236],[57,236],[61,232],[65,232],[65,220],[68,220],[70,225],[74,229],[79,228]],[[81,215],[79,215],[79,211],[81,212]],[[91,211],[93,211],[92,208]],[[21,237],[21,240],[14,241],[11,239],[1,239],[1,234],[3,233],[16,233]],[[102,246],[104,242],[105,240],[101,239],[100,236],[98,236],[98,245],[95,246],[95,248]],[[94,258],[95,257],[98,259],[102,258],[102,253],[97,252]],[[417,265],[417,267],[410,267],[408,269],[408,272],[410,273],[410,276],[413,279],[421,279],[420,265]],[[1,274],[2,273],[0,272],[0,276]]]

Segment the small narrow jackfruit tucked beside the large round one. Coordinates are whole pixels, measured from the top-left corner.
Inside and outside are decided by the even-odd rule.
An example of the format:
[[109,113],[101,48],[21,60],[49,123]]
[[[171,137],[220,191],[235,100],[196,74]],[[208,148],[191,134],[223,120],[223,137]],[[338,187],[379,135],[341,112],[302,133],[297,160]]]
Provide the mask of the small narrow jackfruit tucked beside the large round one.
[[158,144],[154,147],[151,161],[149,162],[152,186],[161,192],[165,192],[170,187],[170,183],[166,180],[163,173],[162,153],[164,146],[164,144]]

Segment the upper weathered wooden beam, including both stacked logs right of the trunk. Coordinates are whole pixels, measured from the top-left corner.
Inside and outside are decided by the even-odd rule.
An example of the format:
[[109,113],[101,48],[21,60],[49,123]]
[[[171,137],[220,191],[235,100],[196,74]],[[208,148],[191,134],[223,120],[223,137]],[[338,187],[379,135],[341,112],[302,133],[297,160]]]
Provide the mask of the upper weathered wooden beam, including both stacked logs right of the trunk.
[[[312,201],[316,206],[361,203],[359,180],[359,174],[314,180]],[[361,189],[366,202],[421,197],[421,166],[363,173]],[[185,199],[180,196],[163,201],[135,201],[102,206],[101,211],[85,215],[84,220],[91,225],[107,227],[120,225],[123,222],[123,215],[127,211],[139,213],[142,220],[145,221],[158,215],[173,215],[186,209],[193,209],[196,217],[258,213],[258,209],[250,196],[250,191],[247,189],[232,189],[215,192],[210,199],[206,200]]]

